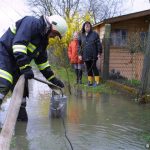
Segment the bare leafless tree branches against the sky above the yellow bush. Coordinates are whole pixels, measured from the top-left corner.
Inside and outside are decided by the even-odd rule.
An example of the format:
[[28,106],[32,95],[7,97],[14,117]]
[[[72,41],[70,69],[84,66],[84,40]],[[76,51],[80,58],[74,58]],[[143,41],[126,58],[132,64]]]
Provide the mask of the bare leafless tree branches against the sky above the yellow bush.
[[121,15],[123,4],[134,0],[27,0],[35,15],[59,14],[66,18],[73,18],[76,13],[89,12],[93,23]]

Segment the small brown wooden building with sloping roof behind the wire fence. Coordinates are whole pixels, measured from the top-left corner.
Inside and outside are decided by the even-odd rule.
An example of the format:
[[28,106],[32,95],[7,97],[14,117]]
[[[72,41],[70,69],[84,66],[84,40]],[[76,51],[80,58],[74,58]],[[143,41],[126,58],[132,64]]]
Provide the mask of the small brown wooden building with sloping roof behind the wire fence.
[[[103,41],[105,25],[111,24],[110,71],[115,69],[128,79],[141,79],[149,21],[150,9],[105,19],[93,25]],[[100,66],[102,70],[103,65]]]

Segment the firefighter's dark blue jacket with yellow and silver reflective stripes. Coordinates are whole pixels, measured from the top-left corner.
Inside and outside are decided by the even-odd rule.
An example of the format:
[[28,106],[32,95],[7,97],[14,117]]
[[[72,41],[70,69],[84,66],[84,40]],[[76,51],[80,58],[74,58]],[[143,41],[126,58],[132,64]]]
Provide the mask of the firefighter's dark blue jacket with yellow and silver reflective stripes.
[[48,33],[43,16],[26,16],[12,25],[0,38],[0,82],[11,85],[17,74],[31,69],[35,60],[46,79],[53,77],[47,57]]

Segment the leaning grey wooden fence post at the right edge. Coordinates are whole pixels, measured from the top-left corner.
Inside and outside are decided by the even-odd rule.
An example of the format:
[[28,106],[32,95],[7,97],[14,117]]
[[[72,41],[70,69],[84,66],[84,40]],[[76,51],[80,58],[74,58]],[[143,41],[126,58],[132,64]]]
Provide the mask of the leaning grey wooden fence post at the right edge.
[[149,93],[150,92],[150,23],[148,29],[146,51],[144,55],[141,83],[142,83],[142,88],[140,94],[144,95],[146,93]]

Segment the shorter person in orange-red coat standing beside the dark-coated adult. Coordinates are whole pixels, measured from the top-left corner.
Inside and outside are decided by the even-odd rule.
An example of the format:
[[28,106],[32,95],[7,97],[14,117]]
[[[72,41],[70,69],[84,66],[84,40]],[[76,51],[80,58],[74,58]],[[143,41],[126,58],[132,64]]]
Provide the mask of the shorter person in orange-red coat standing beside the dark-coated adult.
[[73,40],[68,47],[68,57],[75,70],[77,84],[82,84],[83,61],[78,58],[78,32],[73,34]]

